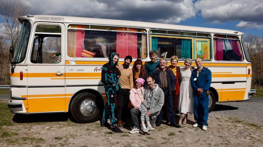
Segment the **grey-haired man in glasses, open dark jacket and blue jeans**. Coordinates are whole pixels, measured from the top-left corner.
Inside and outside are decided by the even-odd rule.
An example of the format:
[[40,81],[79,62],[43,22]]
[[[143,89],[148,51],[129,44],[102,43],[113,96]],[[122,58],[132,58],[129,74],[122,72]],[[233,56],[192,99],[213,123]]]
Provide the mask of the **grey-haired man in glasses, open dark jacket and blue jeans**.
[[[158,84],[160,88],[162,88],[164,93],[164,102],[166,108],[168,110],[168,116],[170,119],[170,125],[176,128],[180,128],[175,121],[175,112],[173,107],[173,98],[172,92],[175,90],[176,86],[176,78],[171,69],[167,69],[167,60],[160,59],[159,61],[160,67],[153,72],[153,76],[155,78],[155,83]],[[156,126],[160,126],[163,121],[163,111],[160,111],[160,114],[157,117]]]

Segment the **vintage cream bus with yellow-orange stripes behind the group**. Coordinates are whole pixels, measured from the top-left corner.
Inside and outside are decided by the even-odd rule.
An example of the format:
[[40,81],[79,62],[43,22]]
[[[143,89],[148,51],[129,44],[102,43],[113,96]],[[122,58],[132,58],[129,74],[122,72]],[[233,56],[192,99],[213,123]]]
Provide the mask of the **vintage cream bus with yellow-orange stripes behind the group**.
[[238,31],[50,15],[19,21],[10,67],[12,113],[70,112],[79,123],[98,120],[105,105],[101,69],[109,52],[119,53],[120,63],[131,55],[145,64],[156,50],[159,59],[176,55],[179,67],[186,58],[201,58],[212,72],[210,111],[215,102],[252,97],[250,58]]

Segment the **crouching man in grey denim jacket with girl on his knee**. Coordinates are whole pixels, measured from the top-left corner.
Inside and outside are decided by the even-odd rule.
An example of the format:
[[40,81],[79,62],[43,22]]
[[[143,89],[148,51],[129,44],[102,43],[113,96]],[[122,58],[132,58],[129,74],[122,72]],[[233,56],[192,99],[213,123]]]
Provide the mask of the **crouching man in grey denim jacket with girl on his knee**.
[[[164,94],[163,90],[159,88],[157,84],[154,83],[155,79],[153,76],[148,76],[146,79],[146,83],[148,86],[144,88],[144,101],[143,104],[147,107],[148,111],[146,115],[150,116],[150,124],[154,127],[155,121],[157,119],[160,110],[163,107],[164,102]],[[134,127],[130,133],[139,133],[139,123],[138,116],[140,116],[140,111],[138,109],[131,109],[132,122]]]

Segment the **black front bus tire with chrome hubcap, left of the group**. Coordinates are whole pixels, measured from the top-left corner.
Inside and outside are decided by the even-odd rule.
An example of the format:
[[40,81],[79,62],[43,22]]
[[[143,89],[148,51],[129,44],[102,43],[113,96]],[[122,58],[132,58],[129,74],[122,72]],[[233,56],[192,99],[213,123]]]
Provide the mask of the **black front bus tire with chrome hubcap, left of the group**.
[[100,118],[96,95],[88,92],[78,94],[70,104],[72,117],[79,123],[95,122]]

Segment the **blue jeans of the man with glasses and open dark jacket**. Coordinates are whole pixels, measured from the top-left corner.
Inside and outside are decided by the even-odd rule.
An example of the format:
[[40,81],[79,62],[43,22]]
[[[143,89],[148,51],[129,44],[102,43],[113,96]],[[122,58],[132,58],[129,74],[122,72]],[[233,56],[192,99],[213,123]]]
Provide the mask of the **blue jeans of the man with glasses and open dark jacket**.
[[[173,106],[173,98],[172,94],[168,93],[169,91],[163,91],[164,94],[164,102],[166,105],[166,108],[168,110],[168,116],[170,119],[170,124],[175,124],[175,112],[174,112],[174,106]],[[163,110],[161,109],[160,114],[157,116],[157,121],[162,122],[163,121]]]

